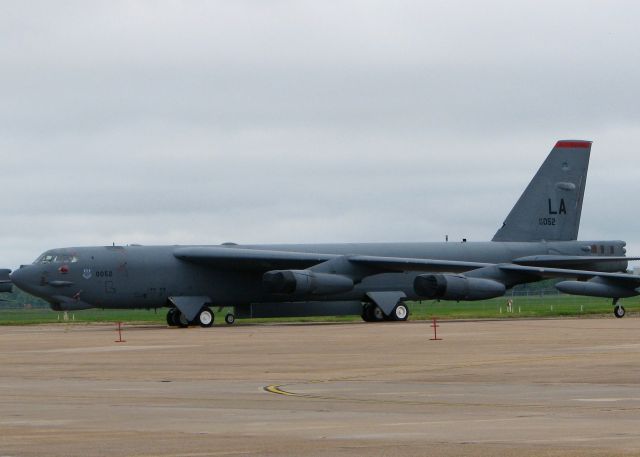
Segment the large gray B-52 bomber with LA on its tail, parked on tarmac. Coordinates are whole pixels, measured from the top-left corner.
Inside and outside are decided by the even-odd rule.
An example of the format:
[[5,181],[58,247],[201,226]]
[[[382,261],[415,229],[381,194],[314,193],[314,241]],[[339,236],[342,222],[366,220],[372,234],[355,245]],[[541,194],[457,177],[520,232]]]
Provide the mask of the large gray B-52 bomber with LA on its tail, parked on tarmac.
[[[489,242],[71,247],[10,275],[54,310],[168,307],[167,323],[210,327],[236,317],[359,314],[404,321],[407,300],[483,300],[517,284],[637,295],[623,241],[576,241],[591,142],[559,141]],[[9,278],[5,278],[5,281]]]

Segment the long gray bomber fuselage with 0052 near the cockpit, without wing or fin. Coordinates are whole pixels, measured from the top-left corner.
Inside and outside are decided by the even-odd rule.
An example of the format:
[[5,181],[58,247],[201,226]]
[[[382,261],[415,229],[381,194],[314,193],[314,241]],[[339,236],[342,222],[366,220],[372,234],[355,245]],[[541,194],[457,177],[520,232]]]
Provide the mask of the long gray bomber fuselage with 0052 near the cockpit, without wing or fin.
[[[285,244],[229,246],[228,249],[237,247],[502,264],[534,255],[624,256],[624,246],[623,241],[558,241]],[[159,308],[168,306],[168,298],[173,296],[206,296],[215,306],[301,301],[265,293],[262,286],[265,270],[194,264],[174,256],[174,251],[179,247],[182,246],[53,249],[33,264],[16,270],[12,278],[20,288],[47,300],[54,309]],[[623,271],[626,267],[626,261],[594,262],[593,265],[583,266],[594,271]],[[316,296],[313,300],[362,301],[367,292],[376,291],[403,291],[408,299],[417,299],[413,281],[418,274],[402,272],[372,275],[364,278],[348,293]],[[523,275],[511,278],[506,286],[538,279]]]

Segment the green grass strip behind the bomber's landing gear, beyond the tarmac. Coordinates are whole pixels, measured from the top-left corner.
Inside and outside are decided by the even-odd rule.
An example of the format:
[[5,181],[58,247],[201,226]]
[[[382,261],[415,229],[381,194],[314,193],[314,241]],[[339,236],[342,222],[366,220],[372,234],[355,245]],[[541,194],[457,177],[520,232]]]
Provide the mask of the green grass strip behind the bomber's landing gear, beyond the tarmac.
[[[575,297],[568,295],[529,296],[513,298],[513,313],[506,312],[507,297],[480,302],[410,302],[411,319],[513,319],[520,317],[560,317],[612,315],[611,300],[603,298]],[[640,311],[640,298],[621,301],[627,313]],[[216,325],[224,325],[224,314],[216,313]],[[154,310],[101,310],[69,311],[68,321],[64,313],[48,308],[0,309],[0,325],[29,325],[47,323],[127,322],[165,325],[166,309]],[[350,322],[359,316],[296,317],[274,319],[240,319],[238,322]]]

